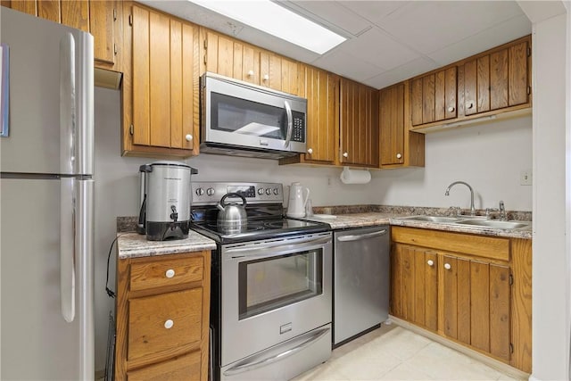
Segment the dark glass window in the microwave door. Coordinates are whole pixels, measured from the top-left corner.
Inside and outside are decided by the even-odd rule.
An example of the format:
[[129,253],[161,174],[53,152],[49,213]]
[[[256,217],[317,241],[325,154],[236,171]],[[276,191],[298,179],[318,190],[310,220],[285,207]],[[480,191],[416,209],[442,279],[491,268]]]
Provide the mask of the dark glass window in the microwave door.
[[285,108],[211,93],[211,128],[254,137],[285,140]]

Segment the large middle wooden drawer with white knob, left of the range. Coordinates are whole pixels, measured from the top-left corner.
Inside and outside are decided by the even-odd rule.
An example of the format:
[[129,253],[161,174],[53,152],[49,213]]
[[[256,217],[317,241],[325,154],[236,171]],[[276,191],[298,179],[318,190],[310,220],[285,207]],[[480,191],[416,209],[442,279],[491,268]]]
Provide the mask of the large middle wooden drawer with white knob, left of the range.
[[200,344],[203,288],[131,299],[128,360]]

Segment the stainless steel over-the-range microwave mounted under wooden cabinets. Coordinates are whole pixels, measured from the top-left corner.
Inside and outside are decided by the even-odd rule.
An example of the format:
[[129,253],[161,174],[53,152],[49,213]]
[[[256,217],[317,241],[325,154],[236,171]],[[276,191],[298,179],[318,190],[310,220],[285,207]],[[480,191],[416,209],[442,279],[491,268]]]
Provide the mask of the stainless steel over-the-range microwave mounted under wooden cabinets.
[[306,149],[307,99],[207,72],[201,153],[279,159]]

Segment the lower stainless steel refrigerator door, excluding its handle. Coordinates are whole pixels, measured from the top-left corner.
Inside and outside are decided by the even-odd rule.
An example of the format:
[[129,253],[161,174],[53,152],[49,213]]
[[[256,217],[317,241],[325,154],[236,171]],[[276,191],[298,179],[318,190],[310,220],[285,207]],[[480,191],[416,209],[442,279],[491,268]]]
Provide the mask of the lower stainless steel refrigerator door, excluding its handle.
[[60,288],[61,182],[2,179],[0,379],[94,377],[93,234],[88,230],[93,230],[93,204],[85,200],[93,182],[76,181],[72,187],[76,309],[67,322]]

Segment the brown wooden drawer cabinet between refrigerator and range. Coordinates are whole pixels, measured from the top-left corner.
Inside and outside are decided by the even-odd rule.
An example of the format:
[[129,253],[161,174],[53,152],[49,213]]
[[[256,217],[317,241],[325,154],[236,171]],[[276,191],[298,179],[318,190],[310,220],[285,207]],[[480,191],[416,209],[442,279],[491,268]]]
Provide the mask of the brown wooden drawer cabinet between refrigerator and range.
[[120,259],[115,379],[208,379],[211,252]]

